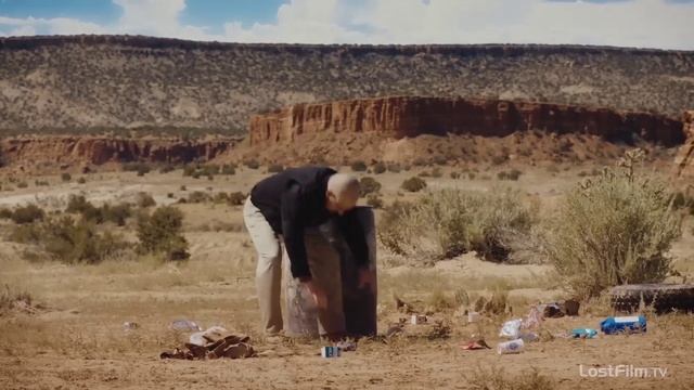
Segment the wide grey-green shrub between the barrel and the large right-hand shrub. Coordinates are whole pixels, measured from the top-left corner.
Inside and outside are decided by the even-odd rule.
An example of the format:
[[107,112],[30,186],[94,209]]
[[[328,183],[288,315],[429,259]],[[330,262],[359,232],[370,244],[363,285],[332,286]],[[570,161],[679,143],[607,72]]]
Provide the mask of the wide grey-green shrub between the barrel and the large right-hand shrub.
[[507,188],[445,190],[386,208],[378,239],[406,256],[442,259],[475,250],[488,260],[507,261],[515,245],[531,234],[537,214],[536,205],[523,204]]

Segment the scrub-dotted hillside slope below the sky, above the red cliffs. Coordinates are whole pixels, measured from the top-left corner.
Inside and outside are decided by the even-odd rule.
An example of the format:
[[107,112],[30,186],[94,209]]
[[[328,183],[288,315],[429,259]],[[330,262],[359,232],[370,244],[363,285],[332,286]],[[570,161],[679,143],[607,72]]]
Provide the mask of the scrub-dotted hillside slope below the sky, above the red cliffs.
[[125,36],[0,39],[5,133],[244,133],[259,112],[385,95],[548,101],[679,119],[694,107],[694,52],[236,44]]

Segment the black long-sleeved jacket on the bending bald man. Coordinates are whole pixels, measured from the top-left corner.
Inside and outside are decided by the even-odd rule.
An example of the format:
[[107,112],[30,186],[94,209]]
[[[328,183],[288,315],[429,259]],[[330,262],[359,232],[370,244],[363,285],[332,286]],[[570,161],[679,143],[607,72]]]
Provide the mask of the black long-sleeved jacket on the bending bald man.
[[[334,219],[358,266],[369,261],[369,248],[356,212],[342,217],[325,208],[327,180],[335,170],[325,167],[287,169],[264,179],[250,191],[250,202],[260,209],[277,234],[284,237],[292,275],[303,281],[311,277],[306,256],[304,229]],[[352,210],[354,211],[354,210]]]

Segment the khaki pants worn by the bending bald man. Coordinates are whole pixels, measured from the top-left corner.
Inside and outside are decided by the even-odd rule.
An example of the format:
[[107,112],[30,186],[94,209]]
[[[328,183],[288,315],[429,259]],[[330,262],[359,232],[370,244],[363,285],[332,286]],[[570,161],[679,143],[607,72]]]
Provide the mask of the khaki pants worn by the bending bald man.
[[[280,296],[282,290],[282,258],[288,260],[282,239],[278,236],[265,216],[246,199],[243,210],[244,222],[250,239],[258,252],[256,288],[260,304],[260,317],[267,334],[277,334],[283,328]],[[318,231],[306,231],[306,252],[313,282],[327,296],[327,308],[318,310],[321,335],[340,335],[345,332],[339,256],[327,239]],[[300,288],[298,281],[288,283],[287,288]]]

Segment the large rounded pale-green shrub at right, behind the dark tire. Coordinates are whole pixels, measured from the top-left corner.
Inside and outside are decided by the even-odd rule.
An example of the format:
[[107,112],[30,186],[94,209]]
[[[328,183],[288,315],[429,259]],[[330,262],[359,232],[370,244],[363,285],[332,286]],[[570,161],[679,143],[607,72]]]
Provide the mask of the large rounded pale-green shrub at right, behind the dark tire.
[[681,235],[665,184],[633,173],[641,153],[628,152],[622,167],[574,188],[548,230],[547,252],[582,297],[625,283],[663,281],[668,251]]

